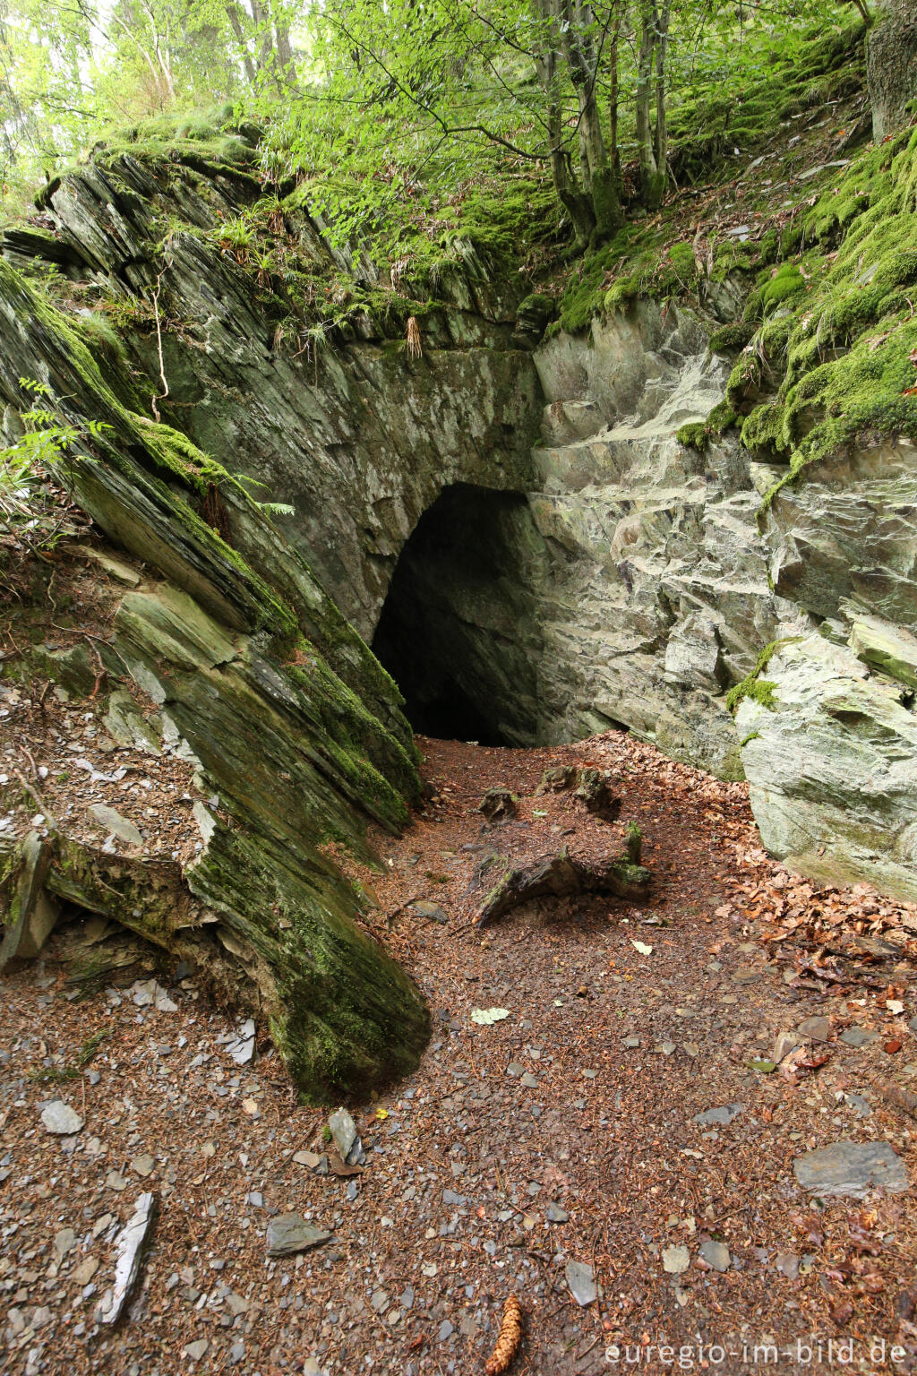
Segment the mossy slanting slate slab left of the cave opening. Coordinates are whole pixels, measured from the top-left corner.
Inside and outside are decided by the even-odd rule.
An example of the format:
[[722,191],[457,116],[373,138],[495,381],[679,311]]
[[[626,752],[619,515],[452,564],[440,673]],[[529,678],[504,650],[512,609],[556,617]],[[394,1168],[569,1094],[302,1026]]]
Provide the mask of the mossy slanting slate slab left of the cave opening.
[[[23,403],[26,376],[47,381],[49,403],[81,433],[87,418],[107,427],[66,480],[98,526],[161,575],[122,596],[111,630],[117,674],[129,671],[155,700],[164,735],[231,819],[195,806],[202,843],[186,867],[106,854],[62,827],[48,838],[44,890],[220,969],[243,1007],[268,1014],[304,1094],[326,1099],[404,1073],[429,1013],[360,932],[360,900],[319,849],[337,835],[368,857],[367,820],[396,830],[419,794],[395,685],[219,466],[212,486],[232,548],[202,520],[205,455],[125,406],[71,322],[3,259],[0,326],[7,420]],[[33,850],[26,838],[0,867],[0,908],[15,894],[23,919],[37,912]],[[283,929],[278,914],[287,915]],[[16,954],[22,947],[18,938]]]

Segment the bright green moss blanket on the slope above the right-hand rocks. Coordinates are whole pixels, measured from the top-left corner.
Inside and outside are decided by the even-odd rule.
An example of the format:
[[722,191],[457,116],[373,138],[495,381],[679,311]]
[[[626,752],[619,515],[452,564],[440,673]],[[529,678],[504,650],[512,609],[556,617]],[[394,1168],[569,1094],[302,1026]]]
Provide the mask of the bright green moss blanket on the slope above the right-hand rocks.
[[742,442],[788,465],[763,509],[851,443],[917,439],[917,133],[855,158],[799,242],[749,299],[758,332],[729,381],[730,405],[751,413]]

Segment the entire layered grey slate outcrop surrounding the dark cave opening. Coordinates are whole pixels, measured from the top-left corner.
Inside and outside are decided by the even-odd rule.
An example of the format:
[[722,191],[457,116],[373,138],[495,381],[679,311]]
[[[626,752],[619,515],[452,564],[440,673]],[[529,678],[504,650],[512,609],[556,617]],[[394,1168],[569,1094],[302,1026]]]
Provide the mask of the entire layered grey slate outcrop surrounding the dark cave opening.
[[[472,244],[433,285],[410,267],[382,279],[287,201],[276,234],[301,275],[355,286],[333,318],[307,303],[290,326],[280,283],[221,228],[263,191],[245,150],[217,164],[131,149],[47,191],[54,231],[19,231],[5,256],[54,261],[96,292],[114,348],[78,316],[52,318],[10,268],[0,279],[7,428],[23,376],[48,381],[74,421],[113,427],[73,469],[80,501],[168,585],[125,599],[115,636],[220,798],[235,798],[231,864],[258,911],[276,908],[280,883],[282,905],[320,910],[351,941],[357,900],[316,846],[359,848],[367,816],[399,826],[415,795],[400,698],[367,649],[377,632],[408,700],[432,710],[458,684],[467,733],[480,720],[481,738],[524,744],[623,725],[745,773],[774,853],[913,897],[913,446],[859,438],[797,483],[734,433],[698,453],[676,432],[722,400],[727,367],[697,311],[637,301],[540,343],[544,321]],[[727,315],[729,282],[720,296]],[[406,314],[421,299],[417,356]],[[293,515],[268,519],[239,476]],[[450,512],[461,523],[436,530]],[[417,644],[412,625],[428,627]],[[223,841],[217,827],[213,867],[194,879],[214,911],[231,907]],[[302,853],[320,877],[305,889]],[[307,936],[302,949],[315,956]],[[323,984],[302,959],[297,1006],[323,1009],[346,962]],[[386,978],[418,1044],[417,995]],[[364,1014],[385,1024],[377,1013],[357,1015],[352,1046]],[[353,1055],[301,1083],[359,1079]],[[384,1064],[367,1064],[367,1083]]]

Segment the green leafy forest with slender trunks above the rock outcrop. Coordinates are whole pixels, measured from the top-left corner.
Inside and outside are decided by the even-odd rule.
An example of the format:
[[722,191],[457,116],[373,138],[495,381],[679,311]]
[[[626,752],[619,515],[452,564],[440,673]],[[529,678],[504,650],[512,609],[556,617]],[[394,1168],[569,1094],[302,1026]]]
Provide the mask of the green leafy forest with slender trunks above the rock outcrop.
[[264,179],[304,186],[341,239],[498,183],[521,213],[550,201],[583,248],[692,179],[685,143],[741,127],[775,52],[792,63],[851,17],[826,0],[0,0],[3,205],[98,140],[254,121]]

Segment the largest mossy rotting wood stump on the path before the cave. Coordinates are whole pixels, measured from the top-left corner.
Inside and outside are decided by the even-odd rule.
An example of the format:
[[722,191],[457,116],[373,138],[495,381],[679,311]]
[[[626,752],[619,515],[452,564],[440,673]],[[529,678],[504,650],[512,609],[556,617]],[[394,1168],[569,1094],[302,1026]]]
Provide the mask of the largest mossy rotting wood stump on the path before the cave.
[[639,859],[641,831],[637,823],[628,824],[624,849],[601,860],[577,860],[566,846],[522,864],[514,864],[503,854],[487,856],[469,886],[470,892],[487,890],[472,921],[483,927],[532,899],[571,899],[584,893],[643,899],[650,872]]

